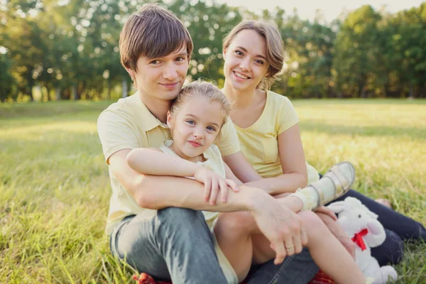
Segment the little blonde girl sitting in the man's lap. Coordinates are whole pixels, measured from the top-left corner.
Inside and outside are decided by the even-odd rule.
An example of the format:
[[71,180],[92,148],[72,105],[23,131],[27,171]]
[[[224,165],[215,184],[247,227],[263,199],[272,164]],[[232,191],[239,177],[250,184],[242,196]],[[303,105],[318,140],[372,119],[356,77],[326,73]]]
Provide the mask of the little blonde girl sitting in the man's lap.
[[[237,185],[241,185],[241,181],[231,173],[214,145],[229,111],[229,102],[217,87],[200,81],[188,84],[180,91],[168,112],[167,123],[173,141],[165,141],[160,148],[133,149],[127,156],[129,165],[134,170],[148,175],[194,178],[204,183],[204,197],[210,204],[214,204],[219,194],[222,201],[226,201],[228,187],[238,192]],[[354,180],[353,168],[349,163],[337,165],[330,175],[339,175],[342,182],[346,182],[345,188],[349,188]],[[334,198],[340,185],[339,181],[330,183],[327,179],[324,180],[317,183],[317,188],[306,187],[300,190],[300,196],[283,197],[279,202],[295,211],[302,207],[315,208],[320,203],[317,192],[323,192],[325,200],[329,201],[329,198]],[[241,187],[241,190],[244,190],[244,187]],[[299,214],[308,228],[302,233],[302,243],[307,244],[317,265],[338,283],[366,283],[366,278],[349,253],[320,219],[310,211]],[[233,220],[241,216],[246,222],[236,226]],[[221,266],[226,262],[234,269],[224,271],[229,283],[244,280],[252,263],[263,263],[274,258],[274,248],[270,247],[271,243],[261,234],[249,213],[204,212],[204,217],[207,224],[214,228],[214,236],[220,247],[217,248],[217,255]],[[238,239],[230,239],[228,229],[236,230],[233,232],[235,234],[231,235],[237,236]],[[235,251],[229,247],[230,242],[241,243],[239,248],[244,249]],[[301,251],[301,248],[287,249],[289,254]],[[291,251],[293,252],[290,253]]]

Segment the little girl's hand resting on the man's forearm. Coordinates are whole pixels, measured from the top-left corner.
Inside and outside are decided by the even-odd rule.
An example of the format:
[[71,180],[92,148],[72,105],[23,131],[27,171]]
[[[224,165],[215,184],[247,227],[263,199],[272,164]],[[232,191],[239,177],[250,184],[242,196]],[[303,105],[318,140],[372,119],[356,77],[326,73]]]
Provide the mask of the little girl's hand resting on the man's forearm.
[[204,183],[204,201],[209,201],[211,205],[216,204],[217,195],[222,198],[222,202],[226,202],[228,196],[228,187],[231,187],[234,192],[239,192],[239,188],[234,180],[226,180],[214,171],[200,166],[195,170],[195,180]]

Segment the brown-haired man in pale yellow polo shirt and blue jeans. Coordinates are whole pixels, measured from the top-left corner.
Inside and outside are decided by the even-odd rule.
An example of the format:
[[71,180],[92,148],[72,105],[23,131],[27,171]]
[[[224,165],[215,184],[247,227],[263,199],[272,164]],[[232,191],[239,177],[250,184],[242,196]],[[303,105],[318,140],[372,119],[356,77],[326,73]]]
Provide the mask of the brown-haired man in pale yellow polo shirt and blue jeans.
[[[121,31],[121,64],[137,92],[111,104],[98,120],[113,190],[106,230],[111,251],[138,271],[173,283],[232,283],[232,268],[218,258],[200,210],[248,211],[275,247],[275,263],[282,263],[266,263],[249,283],[307,283],[318,271],[309,253],[285,258],[285,243],[301,242],[300,218],[263,190],[229,190],[226,203],[218,199],[209,205],[200,182],[141,175],[126,163],[131,149],[158,147],[169,138],[166,114],[185,82],[192,46],[180,20],[155,4],[133,13]],[[242,155],[233,127],[224,126],[218,146],[231,170],[250,180],[257,173]]]

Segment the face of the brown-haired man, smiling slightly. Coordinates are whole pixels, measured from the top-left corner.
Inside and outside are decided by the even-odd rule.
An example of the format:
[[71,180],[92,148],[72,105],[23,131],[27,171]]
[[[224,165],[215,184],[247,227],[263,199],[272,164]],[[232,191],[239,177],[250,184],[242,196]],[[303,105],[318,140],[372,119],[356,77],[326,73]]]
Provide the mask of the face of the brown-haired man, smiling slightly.
[[143,97],[170,101],[178,96],[189,66],[186,46],[161,58],[139,57],[134,78]]

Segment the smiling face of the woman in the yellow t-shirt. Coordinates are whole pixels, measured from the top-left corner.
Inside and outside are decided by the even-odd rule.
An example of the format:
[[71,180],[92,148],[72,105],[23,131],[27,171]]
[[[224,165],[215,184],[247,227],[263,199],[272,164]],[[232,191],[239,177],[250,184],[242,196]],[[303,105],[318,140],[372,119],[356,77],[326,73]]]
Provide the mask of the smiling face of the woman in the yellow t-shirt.
[[268,72],[266,41],[253,30],[236,33],[224,50],[226,84],[238,90],[256,89]]

